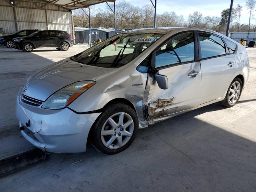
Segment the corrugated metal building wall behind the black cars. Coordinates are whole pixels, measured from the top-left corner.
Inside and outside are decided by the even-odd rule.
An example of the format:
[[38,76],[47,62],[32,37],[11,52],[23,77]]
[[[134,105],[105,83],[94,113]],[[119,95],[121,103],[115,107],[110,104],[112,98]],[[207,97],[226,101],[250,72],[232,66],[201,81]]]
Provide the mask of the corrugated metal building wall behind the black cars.
[[41,0],[16,2],[14,6],[0,0],[0,28],[4,35],[23,29],[63,30],[72,34],[72,17],[70,11]]

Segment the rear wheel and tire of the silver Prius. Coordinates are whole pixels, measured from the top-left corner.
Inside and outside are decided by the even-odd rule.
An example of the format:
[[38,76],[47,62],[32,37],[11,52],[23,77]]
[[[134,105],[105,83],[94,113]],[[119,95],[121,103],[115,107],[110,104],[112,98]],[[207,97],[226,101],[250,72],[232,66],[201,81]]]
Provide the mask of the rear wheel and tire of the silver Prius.
[[220,104],[226,107],[234,106],[240,99],[240,96],[242,94],[242,88],[243,88],[242,80],[240,78],[235,78],[230,84],[230,86],[228,87],[228,92],[224,100],[221,101]]

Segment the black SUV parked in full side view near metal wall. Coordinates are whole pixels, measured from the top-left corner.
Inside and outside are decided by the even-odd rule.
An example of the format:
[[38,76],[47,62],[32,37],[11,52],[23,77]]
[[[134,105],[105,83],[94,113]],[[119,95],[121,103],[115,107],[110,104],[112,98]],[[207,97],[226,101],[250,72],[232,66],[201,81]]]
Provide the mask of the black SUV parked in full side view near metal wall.
[[13,39],[16,49],[32,52],[39,47],[56,47],[62,51],[68,50],[73,46],[73,39],[66,31],[58,30],[39,30],[27,37]]

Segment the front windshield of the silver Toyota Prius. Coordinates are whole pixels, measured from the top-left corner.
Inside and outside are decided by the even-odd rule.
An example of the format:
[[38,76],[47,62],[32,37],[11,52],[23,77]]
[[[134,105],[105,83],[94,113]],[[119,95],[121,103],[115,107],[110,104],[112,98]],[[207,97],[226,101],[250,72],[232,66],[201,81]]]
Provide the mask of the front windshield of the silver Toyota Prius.
[[162,35],[154,33],[118,34],[70,59],[87,65],[117,68],[134,60]]

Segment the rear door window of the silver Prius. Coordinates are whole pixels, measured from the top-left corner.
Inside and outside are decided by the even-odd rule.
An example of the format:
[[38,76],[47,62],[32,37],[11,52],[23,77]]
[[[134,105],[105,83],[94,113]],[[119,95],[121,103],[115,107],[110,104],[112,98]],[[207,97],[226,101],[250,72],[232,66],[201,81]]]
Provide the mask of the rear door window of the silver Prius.
[[198,33],[202,58],[226,54],[225,44],[218,36]]

